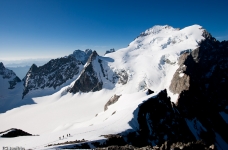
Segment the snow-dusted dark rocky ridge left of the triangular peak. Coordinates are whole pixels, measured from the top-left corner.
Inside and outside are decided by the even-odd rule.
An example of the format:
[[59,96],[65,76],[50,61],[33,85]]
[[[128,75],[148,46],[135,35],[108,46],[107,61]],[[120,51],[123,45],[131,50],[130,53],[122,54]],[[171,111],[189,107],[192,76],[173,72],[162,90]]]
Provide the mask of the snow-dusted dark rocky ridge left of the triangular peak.
[[[23,98],[29,93],[40,96],[42,89],[52,94],[77,78],[83,65],[87,62],[92,50],[75,50],[73,54],[52,59],[43,66],[31,66],[24,77]],[[57,89],[56,89],[57,88]]]

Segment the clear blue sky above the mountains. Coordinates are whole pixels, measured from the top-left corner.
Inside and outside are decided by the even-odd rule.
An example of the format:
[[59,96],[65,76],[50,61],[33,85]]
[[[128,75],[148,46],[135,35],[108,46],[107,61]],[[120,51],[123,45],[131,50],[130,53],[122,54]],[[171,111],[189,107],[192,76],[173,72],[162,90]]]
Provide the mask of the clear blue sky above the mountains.
[[228,0],[0,0],[0,60],[126,47],[154,25],[199,24],[228,40]]

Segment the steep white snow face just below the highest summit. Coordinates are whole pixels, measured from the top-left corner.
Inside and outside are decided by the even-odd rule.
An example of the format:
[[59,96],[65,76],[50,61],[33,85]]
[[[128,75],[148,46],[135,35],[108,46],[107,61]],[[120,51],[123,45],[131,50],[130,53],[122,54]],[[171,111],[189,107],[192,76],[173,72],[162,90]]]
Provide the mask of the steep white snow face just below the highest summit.
[[[108,63],[110,68],[127,72],[128,83],[124,85],[123,93],[145,88],[169,89],[180,54],[197,48],[204,39],[203,31],[199,25],[181,30],[167,25],[154,26],[141,33],[127,48],[106,54],[114,60]],[[168,93],[175,102],[177,95]]]

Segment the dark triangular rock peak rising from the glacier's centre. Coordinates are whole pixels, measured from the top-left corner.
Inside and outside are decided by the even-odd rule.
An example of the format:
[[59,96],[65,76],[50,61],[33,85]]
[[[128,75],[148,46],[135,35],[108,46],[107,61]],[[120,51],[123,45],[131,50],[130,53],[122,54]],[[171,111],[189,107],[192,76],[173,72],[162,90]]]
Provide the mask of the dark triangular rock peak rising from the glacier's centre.
[[71,93],[81,92],[95,92],[102,89],[103,82],[98,78],[98,74],[93,68],[93,61],[97,59],[97,52],[94,51],[87,65],[82,70],[79,79],[75,82],[74,86],[69,90]]

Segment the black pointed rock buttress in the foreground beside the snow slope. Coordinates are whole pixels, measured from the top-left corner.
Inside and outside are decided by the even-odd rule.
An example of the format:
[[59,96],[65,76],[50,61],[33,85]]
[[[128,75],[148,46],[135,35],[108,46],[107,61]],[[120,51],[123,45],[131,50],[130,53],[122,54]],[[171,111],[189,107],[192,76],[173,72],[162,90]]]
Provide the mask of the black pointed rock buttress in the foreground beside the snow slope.
[[[121,133],[125,137],[126,143],[134,146],[133,149],[145,147],[164,150],[216,149],[214,145],[216,141],[214,137],[210,136],[212,130],[202,132],[199,129],[202,140],[197,141],[186,123],[187,118],[180,108],[170,102],[166,90],[143,102],[139,105],[138,110],[135,110],[134,114],[138,120],[139,129],[133,132],[126,131]],[[223,130],[226,130],[226,128],[223,128]],[[124,148],[128,149],[129,147],[121,147],[121,149]]]

